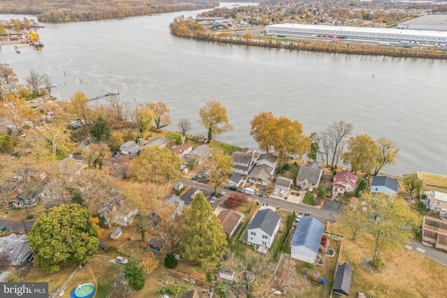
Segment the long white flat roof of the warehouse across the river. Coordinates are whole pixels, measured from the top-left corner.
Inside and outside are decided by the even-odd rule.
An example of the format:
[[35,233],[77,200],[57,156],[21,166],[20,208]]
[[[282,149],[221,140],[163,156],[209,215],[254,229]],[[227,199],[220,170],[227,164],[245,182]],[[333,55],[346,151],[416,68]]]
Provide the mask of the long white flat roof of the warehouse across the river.
[[343,35],[344,32],[359,32],[359,33],[383,33],[383,34],[404,34],[409,36],[430,36],[430,37],[445,37],[447,38],[447,31],[432,31],[432,30],[413,30],[413,29],[395,29],[395,28],[371,28],[371,27],[351,27],[351,26],[329,26],[329,25],[313,25],[313,24],[274,24],[265,26],[266,29],[281,29],[281,28],[295,28],[295,29],[309,29],[309,30],[332,30],[337,31]]

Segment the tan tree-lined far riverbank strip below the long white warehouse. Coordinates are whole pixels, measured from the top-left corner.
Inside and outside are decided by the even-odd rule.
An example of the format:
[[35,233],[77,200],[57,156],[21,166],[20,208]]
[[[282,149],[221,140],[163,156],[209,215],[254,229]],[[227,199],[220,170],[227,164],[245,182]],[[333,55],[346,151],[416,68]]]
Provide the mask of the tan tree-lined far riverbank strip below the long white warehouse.
[[388,56],[402,58],[447,59],[447,52],[436,48],[402,47],[391,45],[374,45],[365,43],[351,43],[342,40],[314,40],[299,38],[274,38],[232,36],[231,33],[212,33],[209,31],[193,31],[175,33],[175,35],[197,40],[215,41],[218,43],[232,43],[236,45],[251,45],[256,47],[273,47],[278,49],[299,50],[309,52],[328,52],[336,54],[360,54],[373,56]]

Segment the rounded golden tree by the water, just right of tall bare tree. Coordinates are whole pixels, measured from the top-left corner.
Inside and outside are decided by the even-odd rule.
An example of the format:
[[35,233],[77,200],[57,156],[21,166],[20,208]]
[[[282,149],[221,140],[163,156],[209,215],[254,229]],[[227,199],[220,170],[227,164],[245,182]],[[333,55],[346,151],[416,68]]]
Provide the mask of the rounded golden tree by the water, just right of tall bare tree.
[[357,171],[371,172],[376,166],[379,148],[369,135],[356,135],[348,140],[347,151],[342,154],[343,163]]

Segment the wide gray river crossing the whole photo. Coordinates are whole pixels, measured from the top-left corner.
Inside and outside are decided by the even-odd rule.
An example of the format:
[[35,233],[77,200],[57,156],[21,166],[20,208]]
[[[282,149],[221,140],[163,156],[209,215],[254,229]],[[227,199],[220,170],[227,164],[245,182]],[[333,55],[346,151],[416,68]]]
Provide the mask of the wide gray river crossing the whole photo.
[[0,63],[22,81],[31,68],[48,73],[62,98],[118,90],[131,104],[161,100],[170,108],[170,128],[186,117],[191,133],[202,135],[198,110],[219,100],[234,127],[219,140],[252,149],[249,121],[261,111],[298,120],[307,134],[344,120],[354,135],[385,137],[400,147],[397,165],[383,172],[447,174],[447,61],[265,49],[169,33],[174,17],[200,11],[45,23],[38,30],[43,50],[23,47],[17,54],[3,45]]

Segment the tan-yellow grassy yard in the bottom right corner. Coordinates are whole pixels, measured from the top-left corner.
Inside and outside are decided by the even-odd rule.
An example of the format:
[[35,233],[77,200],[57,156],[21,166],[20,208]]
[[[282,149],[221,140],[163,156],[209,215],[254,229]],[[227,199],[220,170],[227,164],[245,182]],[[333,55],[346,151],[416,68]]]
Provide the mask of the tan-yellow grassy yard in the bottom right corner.
[[353,266],[351,295],[363,291],[368,297],[437,298],[439,293],[447,292],[444,265],[402,246],[397,251],[381,253],[385,268],[381,273],[371,273],[363,266],[362,258],[373,255],[372,237],[360,233],[353,241],[342,221],[331,225],[330,230],[344,235],[340,261],[346,260]]

